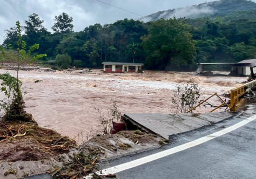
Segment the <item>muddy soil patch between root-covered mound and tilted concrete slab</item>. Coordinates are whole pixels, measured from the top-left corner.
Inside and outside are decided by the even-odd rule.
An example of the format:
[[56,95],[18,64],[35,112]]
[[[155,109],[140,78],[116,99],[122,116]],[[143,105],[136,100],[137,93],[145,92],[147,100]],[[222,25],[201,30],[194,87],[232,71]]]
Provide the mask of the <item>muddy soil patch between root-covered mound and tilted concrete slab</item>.
[[166,140],[158,135],[143,133],[140,130],[124,130],[113,135],[92,137],[80,147],[84,153],[97,153],[100,159],[112,159],[120,155],[160,147],[164,143]]

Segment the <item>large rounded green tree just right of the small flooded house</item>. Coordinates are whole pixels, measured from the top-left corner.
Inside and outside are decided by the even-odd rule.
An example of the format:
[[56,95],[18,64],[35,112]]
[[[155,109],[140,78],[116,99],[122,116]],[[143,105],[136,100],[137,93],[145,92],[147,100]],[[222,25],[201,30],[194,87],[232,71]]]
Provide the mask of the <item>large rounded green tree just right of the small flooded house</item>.
[[143,36],[142,40],[146,64],[150,68],[166,69],[170,64],[176,68],[194,64],[196,48],[183,20],[174,18],[151,22],[149,35]]

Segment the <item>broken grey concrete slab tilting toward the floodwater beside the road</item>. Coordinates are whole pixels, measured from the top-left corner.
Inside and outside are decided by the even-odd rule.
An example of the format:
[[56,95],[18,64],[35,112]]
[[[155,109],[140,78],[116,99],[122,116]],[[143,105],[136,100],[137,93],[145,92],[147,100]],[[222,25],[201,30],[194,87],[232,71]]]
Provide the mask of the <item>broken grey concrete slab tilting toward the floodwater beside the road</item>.
[[188,132],[200,127],[212,125],[228,118],[234,113],[184,113],[184,114],[143,114],[131,113],[124,114],[123,120],[127,124],[137,126],[145,132],[158,134],[165,139],[169,136]]

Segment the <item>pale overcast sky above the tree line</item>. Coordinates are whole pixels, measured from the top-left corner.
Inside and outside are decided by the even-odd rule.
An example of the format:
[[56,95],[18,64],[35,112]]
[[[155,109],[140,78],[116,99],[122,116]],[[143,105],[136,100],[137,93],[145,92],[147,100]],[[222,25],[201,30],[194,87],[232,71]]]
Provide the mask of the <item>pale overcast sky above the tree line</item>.
[[[132,11],[142,16],[157,11],[181,8],[188,5],[204,3],[205,0],[101,0],[103,2]],[[256,0],[254,0],[256,1]],[[210,2],[210,1],[208,1]],[[66,12],[73,17],[75,31],[86,26],[100,23],[113,23],[118,19],[139,18],[132,13],[100,3],[97,0],[0,0],[0,44],[5,36],[5,29],[24,20],[32,13],[37,13],[44,20],[44,26],[51,31],[53,19]]]

